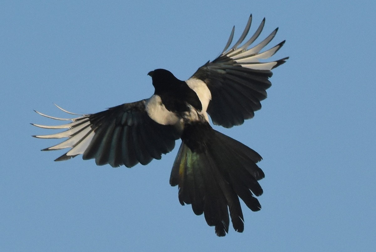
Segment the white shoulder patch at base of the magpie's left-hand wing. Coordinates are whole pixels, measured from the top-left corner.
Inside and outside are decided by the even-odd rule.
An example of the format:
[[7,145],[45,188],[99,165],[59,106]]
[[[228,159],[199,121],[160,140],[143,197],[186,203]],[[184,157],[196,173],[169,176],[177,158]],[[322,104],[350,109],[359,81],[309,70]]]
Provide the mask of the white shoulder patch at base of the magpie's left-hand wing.
[[150,118],[162,125],[175,125],[180,118],[174,112],[168,111],[160,96],[153,94],[146,100],[145,109]]

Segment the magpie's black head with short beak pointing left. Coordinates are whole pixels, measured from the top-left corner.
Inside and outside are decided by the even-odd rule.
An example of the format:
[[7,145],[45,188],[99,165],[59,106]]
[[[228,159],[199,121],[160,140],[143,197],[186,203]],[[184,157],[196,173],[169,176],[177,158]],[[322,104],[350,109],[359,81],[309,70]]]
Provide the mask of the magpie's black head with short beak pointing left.
[[177,79],[170,71],[165,69],[156,69],[150,71],[147,75],[152,77],[153,86],[156,93],[161,93],[164,91],[173,91],[178,88],[179,84],[182,82]]

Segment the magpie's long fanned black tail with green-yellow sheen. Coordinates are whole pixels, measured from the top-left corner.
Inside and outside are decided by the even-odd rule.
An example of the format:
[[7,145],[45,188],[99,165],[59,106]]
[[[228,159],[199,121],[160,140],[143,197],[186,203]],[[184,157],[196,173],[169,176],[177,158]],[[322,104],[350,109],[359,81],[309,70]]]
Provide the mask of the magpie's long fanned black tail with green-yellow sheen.
[[261,209],[253,197],[262,194],[257,181],[265,175],[256,165],[261,156],[208,123],[187,125],[181,138],[170,177],[172,186],[179,185],[180,203],[192,204],[197,215],[204,213],[218,236],[228,232],[229,209],[233,228],[243,232],[238,196],[252,211]]

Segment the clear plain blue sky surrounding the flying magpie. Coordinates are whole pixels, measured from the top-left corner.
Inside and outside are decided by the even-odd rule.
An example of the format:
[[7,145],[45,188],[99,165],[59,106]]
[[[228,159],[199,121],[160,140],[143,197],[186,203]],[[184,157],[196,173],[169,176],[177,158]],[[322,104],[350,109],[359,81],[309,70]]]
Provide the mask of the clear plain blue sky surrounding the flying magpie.
[[[136,2],[136,1],[135,1]],[[159,2],[159,3],[157,3]],[[374,1],[2,1],[0,250],[374,251]],[[268,98],[252,120],[215,129],[255,149],[262,209],[217,237],[181,206],[169,177],[177,148],[112,168],[63,151],[29,123],[150,97],[150,70],[187,79],[253,14],[261,39],[279,27]],[[258,40],[260,41],[260,39]],[[176,145],[179,146],[180,140]]]

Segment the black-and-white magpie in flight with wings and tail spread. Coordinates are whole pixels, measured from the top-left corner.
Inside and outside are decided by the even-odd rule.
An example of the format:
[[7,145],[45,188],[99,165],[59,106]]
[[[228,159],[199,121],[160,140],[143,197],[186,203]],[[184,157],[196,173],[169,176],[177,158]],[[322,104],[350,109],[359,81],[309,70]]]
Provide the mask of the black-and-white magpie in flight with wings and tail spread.
[[[250,47],[259,37],[265,18],[256,32],[243,43],[252,22],[250,15],[238,41],[230,47],[235,27],[224,50],[214,61],[198,68],[188,80],[177,79],[170,71],[156,69],[152,77],[154,94],[144,100],[124,103],[95,114],[74,114],[75,118],[57,126],[33,124],[45,129],[66,129],[36,138],[68,138],[43,150],[69,148],[55,161],[82,154],[95,159],[97,165],[133,167],[161,159],[173,150],[175,141],[182,143],[174,161],[170,184],[178,185],[179,202],[191,204],[196,215],[204,214],[215,233],[224,236],[231,219],[237,232],[244,230],[240,200],[252,211],[261,209],[255,196],[262,194],[259,180],[264,172],[257,162],[261,156],[246,145],[211,127],[212,123],[230,128],[252,118],[267,97],[273,68],[288,59],[260,62],[274,55],[285,43],[261,50],[276,35],[275,29],[260,43]],[[229,48],[230,47],[230,48]]]

